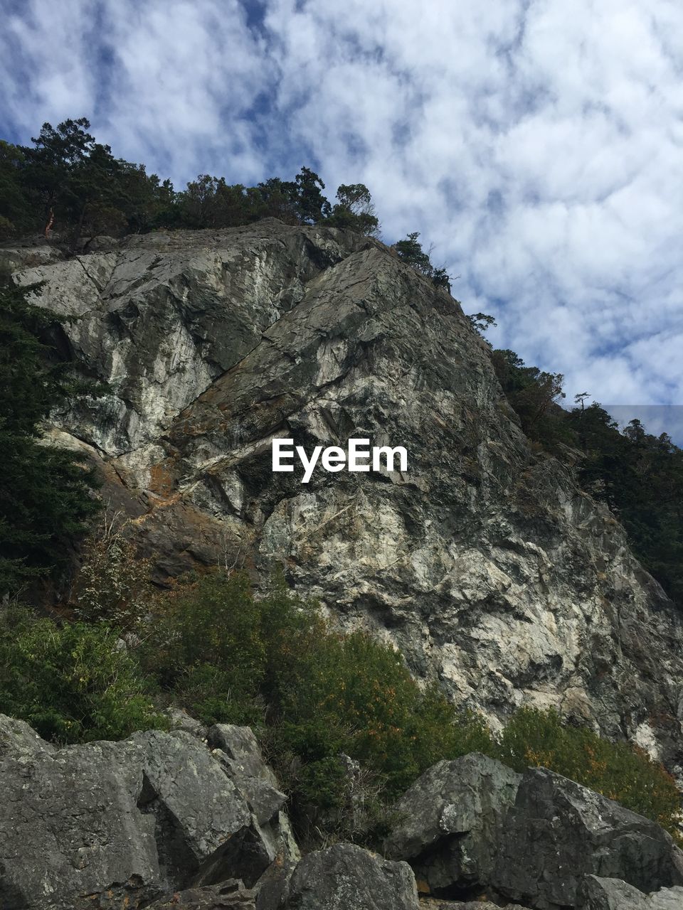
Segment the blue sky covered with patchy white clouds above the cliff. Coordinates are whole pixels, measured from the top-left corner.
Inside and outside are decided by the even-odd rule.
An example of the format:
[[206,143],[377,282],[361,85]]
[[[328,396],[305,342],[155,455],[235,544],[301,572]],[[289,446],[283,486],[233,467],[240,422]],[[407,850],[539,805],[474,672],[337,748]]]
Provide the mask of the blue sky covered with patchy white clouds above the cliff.
[[0,0],[0,136],[182,187],[306,164],[419,230],[567,400],[683,403],[679,0]]

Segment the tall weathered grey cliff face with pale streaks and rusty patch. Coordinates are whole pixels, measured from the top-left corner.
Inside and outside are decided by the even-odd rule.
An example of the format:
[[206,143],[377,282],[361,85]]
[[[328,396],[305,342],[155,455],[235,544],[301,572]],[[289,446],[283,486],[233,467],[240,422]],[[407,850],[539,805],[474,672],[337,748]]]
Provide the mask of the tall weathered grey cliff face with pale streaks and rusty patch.
[[[278,562],[492,723],[554,705],[676,768],[680,617],[572,469],[530,449],[453,298],[332,228],[101,246],[15,280],[45,281],[65,356],[109,384],[49,435],[99,460],[159,578]],[[273,437],[401,445],[408,470],[302,484],[272,473]]]

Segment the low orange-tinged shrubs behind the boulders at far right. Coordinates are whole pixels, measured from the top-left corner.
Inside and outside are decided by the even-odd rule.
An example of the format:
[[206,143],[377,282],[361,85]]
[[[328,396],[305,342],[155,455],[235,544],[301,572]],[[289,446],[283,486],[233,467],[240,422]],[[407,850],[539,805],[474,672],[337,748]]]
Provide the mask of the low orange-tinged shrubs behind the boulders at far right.
[[505,726],[500,759],[524,771],[543,766],[677,832],[680,794],[661,764],[628,743],[611,743],[574,727],[556,711],[521,708]]

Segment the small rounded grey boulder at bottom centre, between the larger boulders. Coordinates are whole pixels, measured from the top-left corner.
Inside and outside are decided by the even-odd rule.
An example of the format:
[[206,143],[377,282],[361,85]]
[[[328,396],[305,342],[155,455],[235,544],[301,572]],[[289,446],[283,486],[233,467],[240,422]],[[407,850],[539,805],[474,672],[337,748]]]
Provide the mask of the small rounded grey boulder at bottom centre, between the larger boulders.
[[418,910],[411,867],[353,844],[304,856],[291,876],[282,910]]

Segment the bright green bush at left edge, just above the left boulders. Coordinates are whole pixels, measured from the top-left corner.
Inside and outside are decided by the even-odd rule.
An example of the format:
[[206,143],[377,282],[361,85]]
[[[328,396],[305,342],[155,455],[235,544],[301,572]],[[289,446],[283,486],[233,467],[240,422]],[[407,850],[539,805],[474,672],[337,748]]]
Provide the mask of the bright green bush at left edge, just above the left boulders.
[[35,619],[0,621],[0,713],[60,743],[122,739],[163,727],[138,663],[107,625]]

